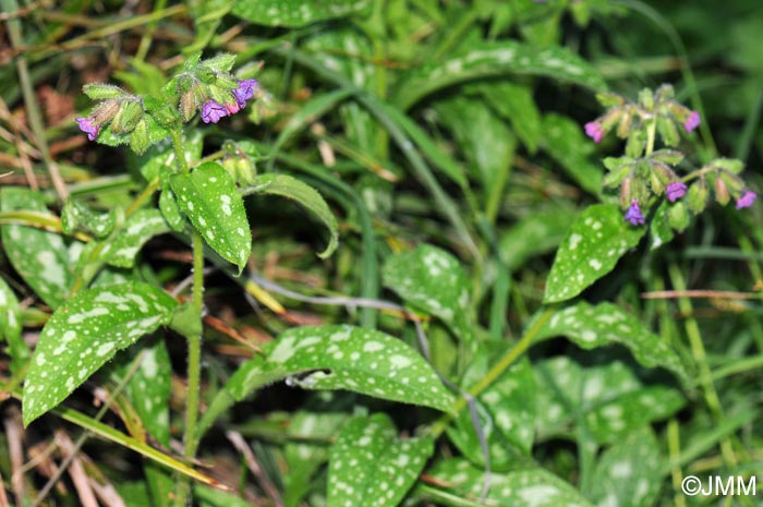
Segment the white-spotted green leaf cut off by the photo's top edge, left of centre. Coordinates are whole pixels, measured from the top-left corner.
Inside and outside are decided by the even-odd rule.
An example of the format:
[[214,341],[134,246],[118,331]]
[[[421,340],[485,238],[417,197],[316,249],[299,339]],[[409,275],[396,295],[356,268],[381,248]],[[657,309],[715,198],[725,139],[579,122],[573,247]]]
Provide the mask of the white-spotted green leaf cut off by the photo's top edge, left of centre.
[[365,10],[371,0],[258,0],[234,2],[231,13],[265,26],[296,28]]

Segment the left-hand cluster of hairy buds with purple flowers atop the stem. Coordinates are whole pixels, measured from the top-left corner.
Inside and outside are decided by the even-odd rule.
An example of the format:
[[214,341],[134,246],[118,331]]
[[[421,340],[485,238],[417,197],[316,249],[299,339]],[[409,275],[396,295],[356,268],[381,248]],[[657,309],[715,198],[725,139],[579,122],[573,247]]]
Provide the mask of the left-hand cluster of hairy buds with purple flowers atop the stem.
[[87,84],[85,94],[98,104],[76,122],[90,141],[129,144],[141,154],[197,113],[203,122],[217,123],[257,98],[256,80],[238,80],[230,73],[234,60],[230,55],[208,60],[191,58],[159,97],[132,95],[109,84]]

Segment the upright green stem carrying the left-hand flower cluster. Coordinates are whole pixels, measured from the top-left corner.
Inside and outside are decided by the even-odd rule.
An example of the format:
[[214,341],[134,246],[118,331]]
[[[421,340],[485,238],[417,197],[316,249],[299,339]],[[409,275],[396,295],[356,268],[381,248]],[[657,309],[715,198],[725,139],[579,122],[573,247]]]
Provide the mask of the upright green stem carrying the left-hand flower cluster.
[[[183,133],[180,128],[172,129],[172,147],[174,148],[175,160],[182,173],[190,172],[189,162],[185,159],[185,145]],[[204,304],[204,242],[202,236],[194,229],[193,231],[193,294],[192,307],[198,317],[198,329],[202,329],[202,306]],[[202,378],[202,335],[189,333],[185,338],[189,341],[187,360],[187,390],[185,395],[185,427],[183,434],[183,455],[193,458],[198,447],[196,435],[196,423],[198,421],[198,401]],[[191,491],[189,478],[181,478],[174,497],[175,507],[185,507],[186,498]]]

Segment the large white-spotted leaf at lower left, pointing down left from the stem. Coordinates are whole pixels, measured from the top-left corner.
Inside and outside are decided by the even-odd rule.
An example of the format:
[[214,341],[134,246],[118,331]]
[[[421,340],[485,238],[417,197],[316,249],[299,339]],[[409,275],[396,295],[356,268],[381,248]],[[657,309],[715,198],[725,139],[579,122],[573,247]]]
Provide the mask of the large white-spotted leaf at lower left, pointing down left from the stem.
[[118,350],[167,324],[177,302],[143,282],[84,290],[45,325],[24,381],[24,425],[52,409]]

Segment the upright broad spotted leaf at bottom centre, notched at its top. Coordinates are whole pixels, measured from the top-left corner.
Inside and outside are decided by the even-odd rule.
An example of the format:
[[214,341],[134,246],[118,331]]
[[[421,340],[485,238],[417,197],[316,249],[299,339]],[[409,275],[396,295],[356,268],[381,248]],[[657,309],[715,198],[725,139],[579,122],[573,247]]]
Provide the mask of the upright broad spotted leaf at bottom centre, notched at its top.
[[429,436],[399,439],[384,413],[351,419],[328,459],[328,505],[395,507],[434,451]]

